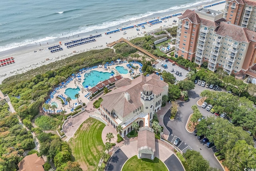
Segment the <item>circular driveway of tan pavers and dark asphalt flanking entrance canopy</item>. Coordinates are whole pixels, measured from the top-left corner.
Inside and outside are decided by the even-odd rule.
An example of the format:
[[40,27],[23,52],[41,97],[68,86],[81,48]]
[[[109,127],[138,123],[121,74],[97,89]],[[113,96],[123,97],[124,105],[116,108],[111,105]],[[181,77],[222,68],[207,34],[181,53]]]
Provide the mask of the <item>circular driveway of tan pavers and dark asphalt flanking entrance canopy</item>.
[[[130,157],[137,154],[137,141],[128,142],[122,145],[110,158],[106,171],[121,171],[124,163]],[[164,145],[156,142],[156,151],[154,154],[155,157],[165,163],[170,171],[184,171],[182,164],[177,159],[176,155]]]

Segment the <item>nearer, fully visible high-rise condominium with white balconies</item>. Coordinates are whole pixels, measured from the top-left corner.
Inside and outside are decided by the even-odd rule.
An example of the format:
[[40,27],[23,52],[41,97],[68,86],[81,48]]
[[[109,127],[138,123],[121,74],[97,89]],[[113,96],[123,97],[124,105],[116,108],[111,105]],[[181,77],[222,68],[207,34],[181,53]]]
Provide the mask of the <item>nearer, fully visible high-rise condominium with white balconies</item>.
[[208,8],[186,10],[179,17],[175,57],[182,56],[208,69],[245,75],[256,62],[256,32],[230,24],[223,12]]

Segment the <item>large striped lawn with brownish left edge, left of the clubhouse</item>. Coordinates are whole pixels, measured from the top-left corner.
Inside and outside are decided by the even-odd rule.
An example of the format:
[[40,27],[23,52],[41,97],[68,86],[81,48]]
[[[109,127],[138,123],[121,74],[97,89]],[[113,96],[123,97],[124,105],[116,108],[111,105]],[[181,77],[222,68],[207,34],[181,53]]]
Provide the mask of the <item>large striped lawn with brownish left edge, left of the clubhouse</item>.
[[104,148],[101,138],[104,127],[105,124],[102,122],[88,118],[69,141],[74,160],[79,161],[83,170],[96,171],[97,169],[100,153]]

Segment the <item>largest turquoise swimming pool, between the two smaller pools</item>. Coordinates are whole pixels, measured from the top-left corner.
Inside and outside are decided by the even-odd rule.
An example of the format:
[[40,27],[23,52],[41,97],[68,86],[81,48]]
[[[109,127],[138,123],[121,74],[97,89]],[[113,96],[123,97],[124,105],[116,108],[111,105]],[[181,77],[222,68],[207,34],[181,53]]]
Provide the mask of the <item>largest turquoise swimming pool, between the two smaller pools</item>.
[[86,88],[86,86],[96,86],[100,81],[107,80],[111,77],[111,74],[114,74],[113,72],[102,72],[102,71],[90,71],[86,74],[84,74],[84,82],[83,86]]

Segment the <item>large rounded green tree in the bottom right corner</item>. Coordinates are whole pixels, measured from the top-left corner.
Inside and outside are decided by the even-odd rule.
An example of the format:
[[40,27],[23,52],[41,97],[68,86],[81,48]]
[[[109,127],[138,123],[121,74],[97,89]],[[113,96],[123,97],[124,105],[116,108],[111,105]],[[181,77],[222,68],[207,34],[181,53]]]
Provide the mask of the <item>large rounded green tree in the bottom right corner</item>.
[[238,140],[225,153],[223,165],[232,171],[241,171],[244,168],[256,168],[256,149],[248,145],[245,140]]

